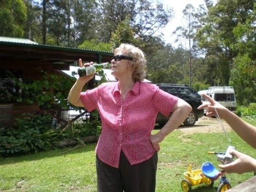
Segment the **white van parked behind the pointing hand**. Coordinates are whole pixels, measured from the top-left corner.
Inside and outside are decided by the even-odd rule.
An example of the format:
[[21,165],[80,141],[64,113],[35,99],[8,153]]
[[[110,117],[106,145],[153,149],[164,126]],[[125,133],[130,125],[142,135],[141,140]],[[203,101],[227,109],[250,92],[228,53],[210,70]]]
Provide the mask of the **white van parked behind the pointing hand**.
[[[198,94],[201,95],[201,97],[203,93],[214,98],[215,101],[221,103],[221,105],[228,108],[228,110],[236,110],[235,91],[232,86],[213,86],[206,90],[198,91]],[[208,103],[203,97],[202,102]]]

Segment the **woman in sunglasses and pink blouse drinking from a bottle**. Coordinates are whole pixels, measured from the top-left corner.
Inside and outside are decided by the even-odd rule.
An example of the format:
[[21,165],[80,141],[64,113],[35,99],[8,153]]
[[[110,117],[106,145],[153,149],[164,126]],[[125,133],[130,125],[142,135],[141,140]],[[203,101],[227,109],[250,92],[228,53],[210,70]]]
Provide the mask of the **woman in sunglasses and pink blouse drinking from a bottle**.
[[[85,92],[82,88],[93,75],[78,78],[68,96],[73,105],[97,109],[101,117],[96,147],[98,192],[154,192],[159,143],[182,124],[192,108],[156,85],[142,82],[145,57],[133,45],[121,44],[114,50],[111,74],[117,82],[102,83]],[[152,135],[158,112],[172,116]]]

